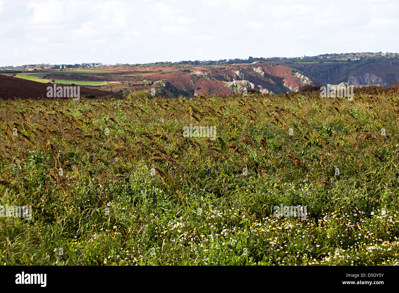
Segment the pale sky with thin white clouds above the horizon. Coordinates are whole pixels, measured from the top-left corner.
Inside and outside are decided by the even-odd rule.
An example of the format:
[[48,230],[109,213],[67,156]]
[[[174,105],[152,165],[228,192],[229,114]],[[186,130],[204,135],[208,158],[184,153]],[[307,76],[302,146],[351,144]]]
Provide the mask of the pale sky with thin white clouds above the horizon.
[[399,51],[398,0],[0,0],[0,66]]

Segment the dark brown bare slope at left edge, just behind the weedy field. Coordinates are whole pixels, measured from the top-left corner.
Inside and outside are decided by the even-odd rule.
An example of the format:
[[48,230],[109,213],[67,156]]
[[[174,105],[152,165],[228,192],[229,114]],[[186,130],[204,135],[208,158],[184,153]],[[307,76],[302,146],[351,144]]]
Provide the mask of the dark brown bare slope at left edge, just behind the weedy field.
[[[45,99],[55,99],[55,98],[47,98],[47,87],[53,87],[53,84],[49,83],[38,83],[37,81],[29,81],[26,79],[19,79],[16,77],[10,77],[6,75],[0,74],[0,99],[8,100],[21,98],[24,99],[36,99],[43,98]],[[57,83],[57,86],[67,86],[61,83]],[[79,86],[79,85],[77,85]],[[122,98],[122,94],[117,92],[107,92],[104,90],[97,90],[94,88],[87,88],[80,86],[80,96],[84,98]],[[61,99],[61,98],[57,98]]]

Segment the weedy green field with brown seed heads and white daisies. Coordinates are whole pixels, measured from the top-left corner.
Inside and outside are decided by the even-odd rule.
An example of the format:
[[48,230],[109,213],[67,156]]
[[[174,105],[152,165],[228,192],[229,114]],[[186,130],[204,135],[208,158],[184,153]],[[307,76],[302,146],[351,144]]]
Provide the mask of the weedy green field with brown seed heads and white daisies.
[[398,95],[0,101],[0,264],[398,264]]

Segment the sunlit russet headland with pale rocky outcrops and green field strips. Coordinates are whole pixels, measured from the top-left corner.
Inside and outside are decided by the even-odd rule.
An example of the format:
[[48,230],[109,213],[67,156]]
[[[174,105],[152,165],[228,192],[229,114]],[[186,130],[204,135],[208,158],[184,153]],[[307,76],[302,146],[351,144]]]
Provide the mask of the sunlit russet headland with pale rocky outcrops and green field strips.
[[245,88],[247,92],[280,94],[313,84],[312,79],[296,69],[262,61],[233,65],[120,65],[95,70],[38,70],[25,71],[16,77],[81,83],[86,84],[86,88],[118,94],[144,90],[172,97],[206,93],[227,95],[242,93]]

